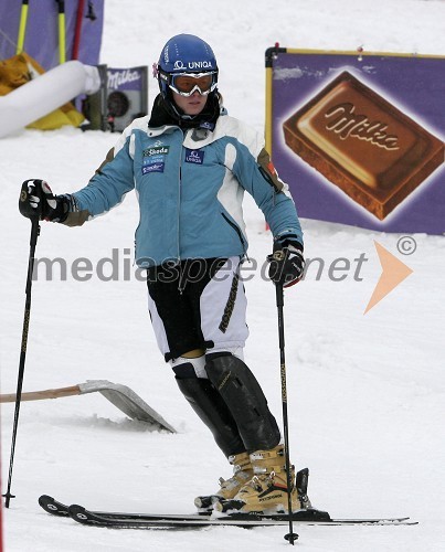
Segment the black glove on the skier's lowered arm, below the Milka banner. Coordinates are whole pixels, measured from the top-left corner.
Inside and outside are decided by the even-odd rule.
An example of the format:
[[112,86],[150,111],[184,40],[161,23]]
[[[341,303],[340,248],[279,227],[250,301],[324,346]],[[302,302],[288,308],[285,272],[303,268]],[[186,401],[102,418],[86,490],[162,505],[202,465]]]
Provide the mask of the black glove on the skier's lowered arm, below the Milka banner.
[[305,270],[303,245],[296,240],[274,242],[274,253],[267,256],[271,263],[268,276],[275,284],[290,287],[300,280]]

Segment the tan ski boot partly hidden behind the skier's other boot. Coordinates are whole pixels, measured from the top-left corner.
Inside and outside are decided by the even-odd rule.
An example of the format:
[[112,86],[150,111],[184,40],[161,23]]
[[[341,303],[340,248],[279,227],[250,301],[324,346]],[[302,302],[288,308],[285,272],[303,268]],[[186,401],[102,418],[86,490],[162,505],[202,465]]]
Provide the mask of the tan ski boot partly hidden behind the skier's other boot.
[[229,457],[233,466],[233,476],[230,479],[220,478],[220,489],[214,495],[205,495],[194,499],[198,511],[204,513],[212,511],[214,505],[220,500],[232,499],[239,490],[252,479],[254,473],[251,458],[247,453],[241,453]]

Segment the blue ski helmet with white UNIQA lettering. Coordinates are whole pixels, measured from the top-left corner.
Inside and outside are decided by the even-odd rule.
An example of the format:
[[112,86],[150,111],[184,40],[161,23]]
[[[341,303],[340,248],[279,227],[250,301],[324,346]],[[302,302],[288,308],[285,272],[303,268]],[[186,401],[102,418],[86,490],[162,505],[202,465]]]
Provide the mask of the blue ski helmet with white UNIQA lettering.
[[163,46],[159,56],[157,77],[162,96],[167,99],[171,76],[178,73],[214,73],[218,64],[210,45],[194,34],[177,34]]

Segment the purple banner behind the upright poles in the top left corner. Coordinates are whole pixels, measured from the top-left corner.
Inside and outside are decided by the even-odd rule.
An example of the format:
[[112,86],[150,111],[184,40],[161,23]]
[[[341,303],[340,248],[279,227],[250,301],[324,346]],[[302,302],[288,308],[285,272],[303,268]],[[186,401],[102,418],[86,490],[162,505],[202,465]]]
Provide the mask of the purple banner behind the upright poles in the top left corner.
[[[21,4],[19,0],[0,1],[0,60],[15,55]],[[72,60],[78,0],[65,0],[66,61]],[[96,19],[87,19],[85,1],[78,61],[86,65],[99,62],[104,24],[104,0],[92,0]],[[45,71],[59,65],[59,4],[55,0],[29,2],[28,24],[23,50]]]

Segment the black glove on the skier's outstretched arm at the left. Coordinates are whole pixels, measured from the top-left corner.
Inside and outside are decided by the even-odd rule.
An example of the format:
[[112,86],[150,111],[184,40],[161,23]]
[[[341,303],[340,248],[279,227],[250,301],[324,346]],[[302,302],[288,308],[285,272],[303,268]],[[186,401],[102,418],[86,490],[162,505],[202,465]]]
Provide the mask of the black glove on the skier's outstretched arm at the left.
[[70,198],[54,195],[44,180],[25,180],[20,193],[19,211],[23,216],[41,221],[64,222],[70,211]]

